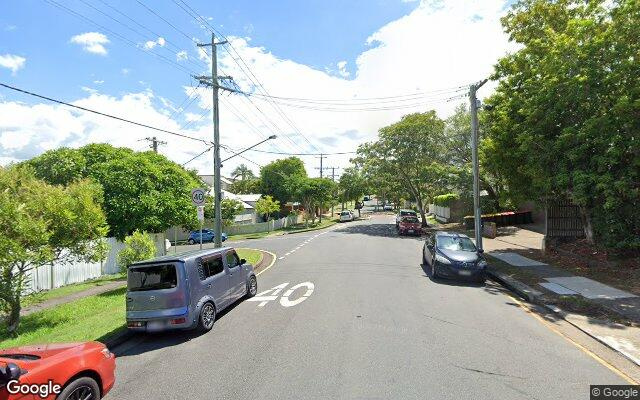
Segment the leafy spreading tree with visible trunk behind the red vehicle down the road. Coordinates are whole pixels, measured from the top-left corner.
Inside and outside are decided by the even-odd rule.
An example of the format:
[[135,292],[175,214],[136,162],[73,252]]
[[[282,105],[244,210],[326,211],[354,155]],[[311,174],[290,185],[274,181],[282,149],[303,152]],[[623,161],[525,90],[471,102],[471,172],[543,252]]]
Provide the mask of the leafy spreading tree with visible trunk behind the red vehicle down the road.
[[380,129],[378,141],[361,145],[355,160],[370,176],[401,185],[418,204],[423,226],[426,202],[449,186],[457,171],[446,160],[444,128],[435,111],[406,115]]

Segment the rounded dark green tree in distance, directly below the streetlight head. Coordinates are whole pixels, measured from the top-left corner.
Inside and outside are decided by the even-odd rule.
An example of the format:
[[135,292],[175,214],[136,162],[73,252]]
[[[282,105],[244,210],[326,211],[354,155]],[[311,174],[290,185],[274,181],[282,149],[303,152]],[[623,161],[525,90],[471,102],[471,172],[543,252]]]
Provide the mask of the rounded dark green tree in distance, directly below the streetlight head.
[[304,163],[297,157],[275,160],[260,169],[262,193],[272,196],[280,204],[293,199],[295,185],[291,182],[297,178],[306,178],[307,171]]

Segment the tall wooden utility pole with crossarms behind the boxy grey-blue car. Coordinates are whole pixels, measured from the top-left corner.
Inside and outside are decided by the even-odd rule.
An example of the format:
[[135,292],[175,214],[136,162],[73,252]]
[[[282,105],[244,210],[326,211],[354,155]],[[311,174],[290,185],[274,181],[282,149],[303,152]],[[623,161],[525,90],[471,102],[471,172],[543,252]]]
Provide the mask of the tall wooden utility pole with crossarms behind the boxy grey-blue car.
[[214,198],[214,246],[222,247],[222,190],[220,187],[220,113],[218,108],[218,89],[237,92],[237,90],[221,86],[218,79],[231,79],[231,77],[218,77],[218,45],[227,41],[216,43],[216,37],[211,34],[211,43],[198,43],[198,47],[211,47],[211,76],[196,76],[195,78],[213,89],[213,188]]

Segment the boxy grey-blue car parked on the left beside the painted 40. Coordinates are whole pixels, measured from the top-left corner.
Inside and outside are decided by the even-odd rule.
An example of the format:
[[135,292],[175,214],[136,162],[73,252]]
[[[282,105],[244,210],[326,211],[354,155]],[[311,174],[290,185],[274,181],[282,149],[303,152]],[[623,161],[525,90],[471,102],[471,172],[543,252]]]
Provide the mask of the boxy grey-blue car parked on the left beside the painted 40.
[[206,332],[217,313],[257,290],[253,266],[231,247],[140,261],[127,268],[127,327]]

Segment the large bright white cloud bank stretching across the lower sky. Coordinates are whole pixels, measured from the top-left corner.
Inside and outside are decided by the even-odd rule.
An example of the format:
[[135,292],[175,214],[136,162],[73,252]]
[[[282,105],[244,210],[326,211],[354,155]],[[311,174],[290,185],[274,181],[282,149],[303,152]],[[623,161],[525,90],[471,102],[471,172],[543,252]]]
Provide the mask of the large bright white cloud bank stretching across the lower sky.
[[[358,99],[431,92],[469,84],[488,76],[497,59],[513,48],[508,43],[499,21],[504,13],[505,1],[485,0],[470,3],[448,0],[435,2],[433,5],[423,2],[409,15],[372,32],[368,39],[370,46],[365,51],[354,60],[344,59],[335,64],[338,74],[335,71],[327,73],[292,60],[278,58],[268,49],[252,46],[249,39],[230,40],[272,95]],[[475,15],[481,18],[474,18]],[[470,41],[469,37],[473,37],[474,40]],[[210,61],[202,52],[198,52],[198,55],[207,62]],[[219,62],[225,74],[233,76],[241,88],[254,90],[229,55],[221,53]],[[124,71],[123,69],[123,73]],[[343,72],[342,75],[340,71]],[[349,72],[350,74],[346,75]],[[488,84],[482,88],[479,95],[489,95],[491,90],[492,86]],[[191,91],[190,87],[183,89],[185,95]],[[180,132],[209,140],[212,135],[211,116],[205,109],[211,105],[211,92],[206,88],[200,88],[198,91],[200,97],[190,107],[189,112],[178,114],[173,119],[167,116],[167,109],[170,107],[154,97],[149,89],[122,97],[87,94],[88,97],[78,100],[77,103],[168,130],[179,130],[182,125],[191,122]],[[376,112],[327,112],[286,105],[280,107],[318,148],[325,152],[338,152],[353,150],[359,144],[375,139],[379,128],[397,121],[402,115],[410,112],[435,109],[441,117],[446,117],[457,104],[466,103],[468,100],[462,98],[447,102],[445,99],[454,94],[464,93],[464,90],[451,90],[425,95],[414,102],[405,102],[410,107]],[[242,149],[255,144],[264,136],[275,133],[278,139],[261,145],[261,149],[316,151],[268,102],[259,97],[254,96],[252,101],[268,116],[268,120],[243,96],[225,95],[221,96],[220,101],[220,134],[223,144]],[[196,108],[196,104],[200,109]],[[394,104],[398,103],[381,105]],[[356,107],[371,108],[375,105],[374,103]],[[0,115],[10,116],[8,120],[0,120],[0,162],[30,157],[52,147],[81,146],[90,142],[107,142],[139,149],[141,144],[137,140],[150,135],[149,131],[143,128],[95,115],[78,114],[49,104],[27,106],[0,102]],[[34,119],[34,115],[38,118]],[[245,118],[251,124],[247,124]],[[254,128],[260,134],[256,133]],[[169,142],[168,146],[161,148],[161,152],[176,162],[186,162],[204,150],[203,144],[199,142],[160,132],[154,134],[159,139]],[[17,136],[20,137],[19,141],[14,140]],[[227,154],[223,151],[223,157]],[[278,157],[256,152],[247,152],[246,156],[260,164],[266,164]],[[352,155],[330,156],[324,162],[329,166],[345,167],[350,157]],[[314,167],[318,166],[319,161],[314,157],[303,157],[303,160],[308,173],[317,175],[318,171]],[[256,172],[258,170],[254,164],[237,157],[224,163],[223,173],[228,173],[239,163],[246,163]],[[189,166],[203,172],[211,172],[212,157],[208,153]]]

